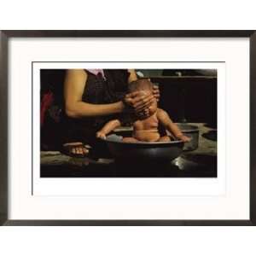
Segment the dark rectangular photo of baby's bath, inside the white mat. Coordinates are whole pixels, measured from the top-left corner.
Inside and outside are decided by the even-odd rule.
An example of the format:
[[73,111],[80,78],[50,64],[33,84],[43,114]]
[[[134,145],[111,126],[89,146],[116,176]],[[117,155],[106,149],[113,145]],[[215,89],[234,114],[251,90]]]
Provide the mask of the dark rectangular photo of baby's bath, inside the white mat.
[[217,69],[39,72],[40,177],[218,177]]

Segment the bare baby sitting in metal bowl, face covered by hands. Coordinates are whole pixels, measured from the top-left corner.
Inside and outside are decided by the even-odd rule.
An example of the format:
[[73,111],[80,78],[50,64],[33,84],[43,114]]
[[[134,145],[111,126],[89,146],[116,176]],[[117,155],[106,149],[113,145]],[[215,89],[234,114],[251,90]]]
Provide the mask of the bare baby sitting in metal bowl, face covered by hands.
[[[143,90],[145,95],[153,92],[153,84],[148,79],[138,79],[131,82],[128,87],[130,92],[137,90]],[[154,102],[148,109],[148,118],[142,119],[140,115],[134,115],[133,117],[133,134],[132,137],[124,137],[125,143],[137,143],[137,142],[169,142],[171,137],[160,137],[158,127],[160,124],[164,125],[167,131],[171,133],[172,138],[175,140],[182,140],[184,143],[189,142],[190,138],[183,135],[182,131],[172,122],[168,113],[163,109],[157,108],[157,101]],[[96,137],[105,139],[109,132],[113,131],[121,125],[119,119],[109,121],[102,127],[100,131],[97,131]]]

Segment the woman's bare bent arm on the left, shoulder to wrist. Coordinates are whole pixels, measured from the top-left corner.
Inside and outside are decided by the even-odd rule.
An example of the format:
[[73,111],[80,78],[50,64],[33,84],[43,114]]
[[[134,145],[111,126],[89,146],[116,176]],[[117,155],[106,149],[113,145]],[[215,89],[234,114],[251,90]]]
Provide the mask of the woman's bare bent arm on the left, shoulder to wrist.
[[67,116],[81,118],[120,113],[124,110],[123,102],[111,104],[90,104],[82,101],[87,73],[83,69],[70,69],[64,82],[64,101]]

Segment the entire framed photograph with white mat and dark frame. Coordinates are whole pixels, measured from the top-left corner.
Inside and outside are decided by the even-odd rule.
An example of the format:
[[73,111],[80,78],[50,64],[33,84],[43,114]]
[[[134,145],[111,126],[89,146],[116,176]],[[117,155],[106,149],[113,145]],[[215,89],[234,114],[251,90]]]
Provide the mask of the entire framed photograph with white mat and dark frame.
[[255,32],[0,37],[1,224],[255,224]]

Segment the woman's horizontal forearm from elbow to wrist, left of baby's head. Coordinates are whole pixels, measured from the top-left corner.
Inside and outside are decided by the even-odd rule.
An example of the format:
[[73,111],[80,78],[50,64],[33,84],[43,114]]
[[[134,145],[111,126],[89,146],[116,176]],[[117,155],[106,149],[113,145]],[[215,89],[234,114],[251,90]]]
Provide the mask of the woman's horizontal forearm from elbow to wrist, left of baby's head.
[[87,102],[75,102],[66,106],[67,116],[72,118],[93,117],[121,113],[125,106],[123,102],[111,104],[90,104]]

